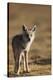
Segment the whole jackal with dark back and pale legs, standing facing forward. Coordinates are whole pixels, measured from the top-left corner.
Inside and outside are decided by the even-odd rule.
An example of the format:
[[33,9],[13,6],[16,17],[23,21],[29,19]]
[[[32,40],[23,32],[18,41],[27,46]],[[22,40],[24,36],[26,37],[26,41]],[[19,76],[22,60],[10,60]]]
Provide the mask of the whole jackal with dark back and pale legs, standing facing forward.
[[35,38],[36,25],[32,29],[28,29],[26,25],[22,26],[22,34],[16,35],[12,39],[12,49],[15,59],[14,72],[19,75],[20,62],[24,59],[24,71],[29,72],[28,52]]

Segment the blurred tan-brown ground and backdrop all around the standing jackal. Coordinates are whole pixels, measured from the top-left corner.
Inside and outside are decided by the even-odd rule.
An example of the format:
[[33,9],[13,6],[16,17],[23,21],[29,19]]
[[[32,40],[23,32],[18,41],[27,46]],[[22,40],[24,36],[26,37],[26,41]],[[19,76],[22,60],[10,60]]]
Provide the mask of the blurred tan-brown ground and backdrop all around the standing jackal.
[[9,4],[9,76],[13,73],[14,56],[12,51],[12,38],[19,34],[22,25],[32,27],[37,25],[36,38],[29,52],[29,73],[23,73],[21,64],[20,76],[51,75],[51,6],[32,4]]

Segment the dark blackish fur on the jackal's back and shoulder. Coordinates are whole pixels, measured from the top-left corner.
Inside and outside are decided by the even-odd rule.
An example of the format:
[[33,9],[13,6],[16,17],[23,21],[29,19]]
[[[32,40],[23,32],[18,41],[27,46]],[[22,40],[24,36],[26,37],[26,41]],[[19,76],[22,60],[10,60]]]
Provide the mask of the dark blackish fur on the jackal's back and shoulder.
[[25,49],[26,48],[26,43],[23,40],[23,35],[20,34],[20,35],[14,36],[13,39],[12,39],[12,45],[15,45],[17,47]]

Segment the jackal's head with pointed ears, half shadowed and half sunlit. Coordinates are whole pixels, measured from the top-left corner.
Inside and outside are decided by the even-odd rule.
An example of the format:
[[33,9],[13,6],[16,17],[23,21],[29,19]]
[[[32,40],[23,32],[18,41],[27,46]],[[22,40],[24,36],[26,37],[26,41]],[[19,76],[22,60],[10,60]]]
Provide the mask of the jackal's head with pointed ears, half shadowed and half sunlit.
[[36,32],[36,25],[32,29],[28,29],[26,25],[23,25],[23,38],[26,42],[34,40]]

